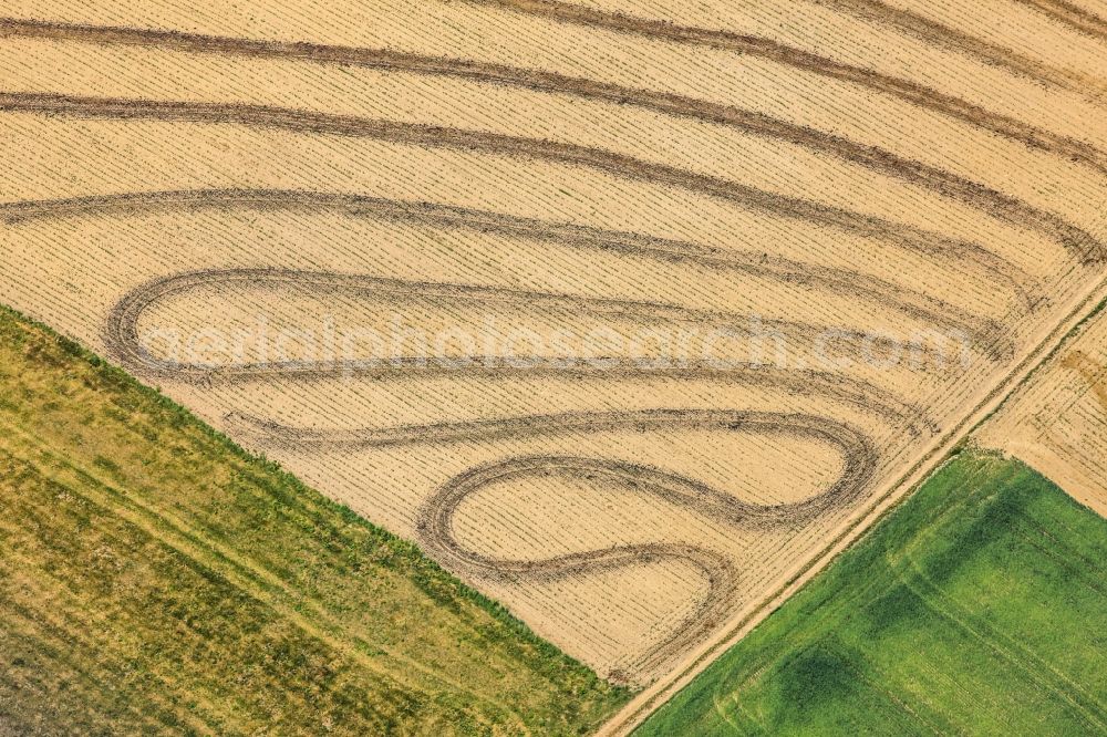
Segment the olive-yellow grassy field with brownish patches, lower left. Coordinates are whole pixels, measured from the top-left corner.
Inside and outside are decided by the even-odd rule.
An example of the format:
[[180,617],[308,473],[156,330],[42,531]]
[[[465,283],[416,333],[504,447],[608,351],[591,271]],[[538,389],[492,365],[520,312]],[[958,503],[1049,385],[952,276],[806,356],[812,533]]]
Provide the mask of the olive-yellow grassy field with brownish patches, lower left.
[[627,698],[0,310],[0,734],[577,734]]

